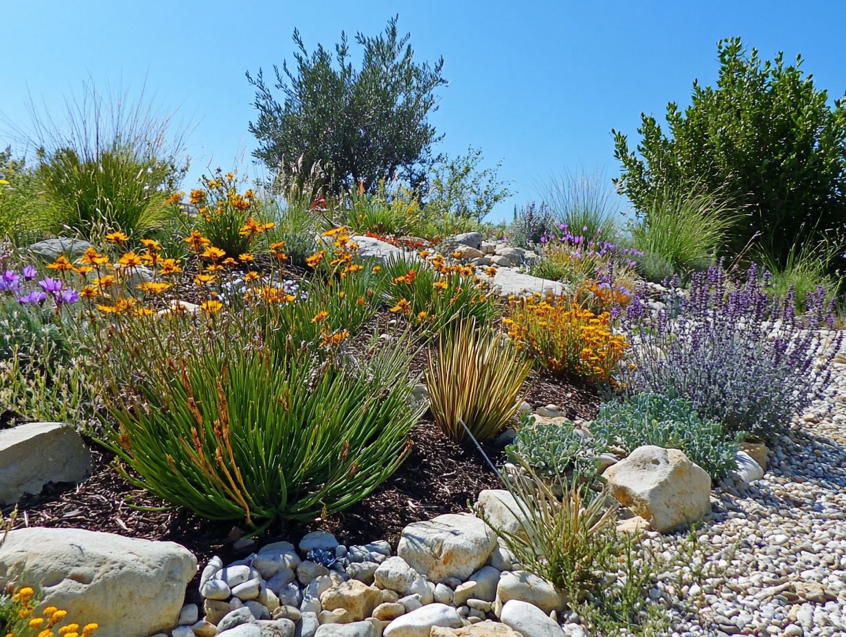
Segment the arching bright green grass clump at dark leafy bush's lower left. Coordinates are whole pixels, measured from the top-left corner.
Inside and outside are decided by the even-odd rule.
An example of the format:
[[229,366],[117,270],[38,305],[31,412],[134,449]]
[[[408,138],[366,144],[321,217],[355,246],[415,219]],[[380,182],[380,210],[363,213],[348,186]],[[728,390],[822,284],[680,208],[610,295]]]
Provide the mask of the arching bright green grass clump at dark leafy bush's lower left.
[[721,195],[695,190],[663,189],[639,216],[632,241],[647,255],[638,269],[652,281],[711,265],[739,222],[738,211]]

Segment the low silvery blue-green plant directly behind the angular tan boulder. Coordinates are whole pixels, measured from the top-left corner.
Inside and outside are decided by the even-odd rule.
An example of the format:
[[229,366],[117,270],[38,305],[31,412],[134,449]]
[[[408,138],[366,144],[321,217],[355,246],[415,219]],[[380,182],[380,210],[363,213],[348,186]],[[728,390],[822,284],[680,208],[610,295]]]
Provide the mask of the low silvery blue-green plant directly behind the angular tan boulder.
[[727,440],[717,421],[700,418],[683,398],[641,393],[603,404],[592,431],[629,452],[642,445],[680,449],[713,480],[737,468],[737,443]]

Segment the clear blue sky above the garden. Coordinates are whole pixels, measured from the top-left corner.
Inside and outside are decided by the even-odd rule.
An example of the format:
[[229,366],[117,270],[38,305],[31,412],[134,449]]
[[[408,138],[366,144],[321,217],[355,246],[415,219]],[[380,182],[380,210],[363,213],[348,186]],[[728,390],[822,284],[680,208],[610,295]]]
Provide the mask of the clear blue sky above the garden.
[[341,30],[352,41],[356,31],[376,33],[399,14],[415,56],[446,62],[449,85],[431,116],[446,134],[441,150],[480,147],[488,163],[502,160],[501,176],[513,182],[517,194],[497,208],[499,218],[563,168],[616,174],[610,130],[634,138],[641,111],[662,117],[667,101],[686,104],[694,78],[716,78],[722,37],[742,36],[766,58],[801,53],[818,87],[832,97],[846,91],[842,0],[3,4],[6,119],[28,121],[28,94],[61,109],[89,77],[130,90],[146,80],[162,111],[194,124],[188,188],[208,166],[249,168],[255,111],[244,71],[272,73],[274,63],[290,59],[295,26],[306,47],[331,47]]

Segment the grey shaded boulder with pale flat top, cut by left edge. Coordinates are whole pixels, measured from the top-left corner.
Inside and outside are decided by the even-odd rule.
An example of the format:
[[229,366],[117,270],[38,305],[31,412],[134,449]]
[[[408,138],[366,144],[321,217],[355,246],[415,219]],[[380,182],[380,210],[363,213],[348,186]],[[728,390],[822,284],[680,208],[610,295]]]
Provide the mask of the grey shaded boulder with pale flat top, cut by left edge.
[[0,504],[38,494],[47,482],[80,482],[91,453],[80,434],[61,422],[30,422],[0,430]]

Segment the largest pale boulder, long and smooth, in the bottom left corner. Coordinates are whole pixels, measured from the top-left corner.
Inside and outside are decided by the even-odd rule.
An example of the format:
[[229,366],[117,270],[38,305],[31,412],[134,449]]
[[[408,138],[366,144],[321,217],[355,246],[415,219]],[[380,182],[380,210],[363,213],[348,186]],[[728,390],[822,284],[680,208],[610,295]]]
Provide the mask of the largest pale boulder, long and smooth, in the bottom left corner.
[[81,529],[13,530],[0,546],[0,586],[25,578],[40,587],[41,607],[100,624],[97,637],[172,629],[196,568],[194,555],[175,542]]

